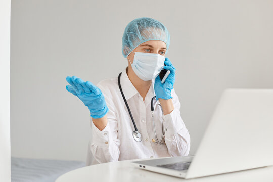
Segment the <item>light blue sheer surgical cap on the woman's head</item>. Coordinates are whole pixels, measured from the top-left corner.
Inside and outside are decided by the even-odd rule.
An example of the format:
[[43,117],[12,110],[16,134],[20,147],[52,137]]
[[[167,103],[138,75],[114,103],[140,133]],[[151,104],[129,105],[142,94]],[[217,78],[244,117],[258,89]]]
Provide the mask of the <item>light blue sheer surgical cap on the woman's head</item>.
[[161,40],[166,43],[168,52],[170,34],[167,28],[152,18],[137,18],[125,28],[122,37],[122,54],[126,58],[132,50],[149,40]]

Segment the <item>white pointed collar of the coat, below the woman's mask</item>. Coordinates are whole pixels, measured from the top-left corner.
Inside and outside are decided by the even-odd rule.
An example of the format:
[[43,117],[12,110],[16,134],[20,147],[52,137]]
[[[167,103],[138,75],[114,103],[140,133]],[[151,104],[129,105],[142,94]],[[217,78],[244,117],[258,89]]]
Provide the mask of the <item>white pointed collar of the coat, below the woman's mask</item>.
[[[136,88],[133,86],[132,82],[130,81],[127,73],[126,73],[126,69],[125,68],[122,73],[121,73],[121,76],[120,76],[120,85],[121,85],[121,88],[122,88],[122,91],[123,91],[123,94],[125,96],[125,99],[128,100],[130,99],[131,97],[133,97],[135,94],[138,94],[138,90],[136,90]],[[147,94],[150,94],[151,98],[153,96],[155,96],[155,92],[154,92],[154,82],[155,80],[152,80],[152,84],[149,88],[149,91]],[[152,92],[152,93],[151,93]]]

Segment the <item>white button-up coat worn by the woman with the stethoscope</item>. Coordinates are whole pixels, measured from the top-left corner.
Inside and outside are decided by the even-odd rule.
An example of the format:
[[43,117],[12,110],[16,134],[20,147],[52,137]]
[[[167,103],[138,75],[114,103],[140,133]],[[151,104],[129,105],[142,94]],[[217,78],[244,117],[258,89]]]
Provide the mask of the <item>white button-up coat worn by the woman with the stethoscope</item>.
[[[190,135],[180,116],[180,102],[172,89],[174,110],[163,115],[159,101],[154,101],[154,121],[160,140],[162,124],[165,130],[165,144],[156,144],[152,118],[151,99],[155,96],[154,80],[143,102],[142,96],[129,80],[126,69],[120,77],[121,87],[128,102],[136,126],[142,134],[142,141],[132,136],[134,126],[118,87],[118,78],[110,78],[97,84],[104,94],[109,108],[108,123],[100,131],[90,120],[92,137],[88,144],[86,165],[152,157],[186,156],[190,150]],[[92,158],[93,155],[93,158]]]

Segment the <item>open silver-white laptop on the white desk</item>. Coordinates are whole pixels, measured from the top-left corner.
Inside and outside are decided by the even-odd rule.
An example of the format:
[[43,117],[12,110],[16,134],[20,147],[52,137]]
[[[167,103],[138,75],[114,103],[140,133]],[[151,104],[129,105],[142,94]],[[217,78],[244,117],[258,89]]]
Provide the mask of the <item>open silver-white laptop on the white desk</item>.
[[273,89],[226,89],[194,156],[131,162],[181,178],[273,165]]

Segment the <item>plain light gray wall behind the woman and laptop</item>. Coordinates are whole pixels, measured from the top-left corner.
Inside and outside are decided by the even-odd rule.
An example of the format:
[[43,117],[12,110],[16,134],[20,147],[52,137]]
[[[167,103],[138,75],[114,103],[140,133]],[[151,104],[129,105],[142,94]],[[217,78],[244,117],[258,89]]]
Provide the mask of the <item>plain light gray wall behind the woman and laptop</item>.
[[123,31],[139,17],[170,32],[194,154],[225,88],[273,87],[272,10],[272,1],[12,1],[11,155],[85,161],[89,111],[65,78],[117,76]]

